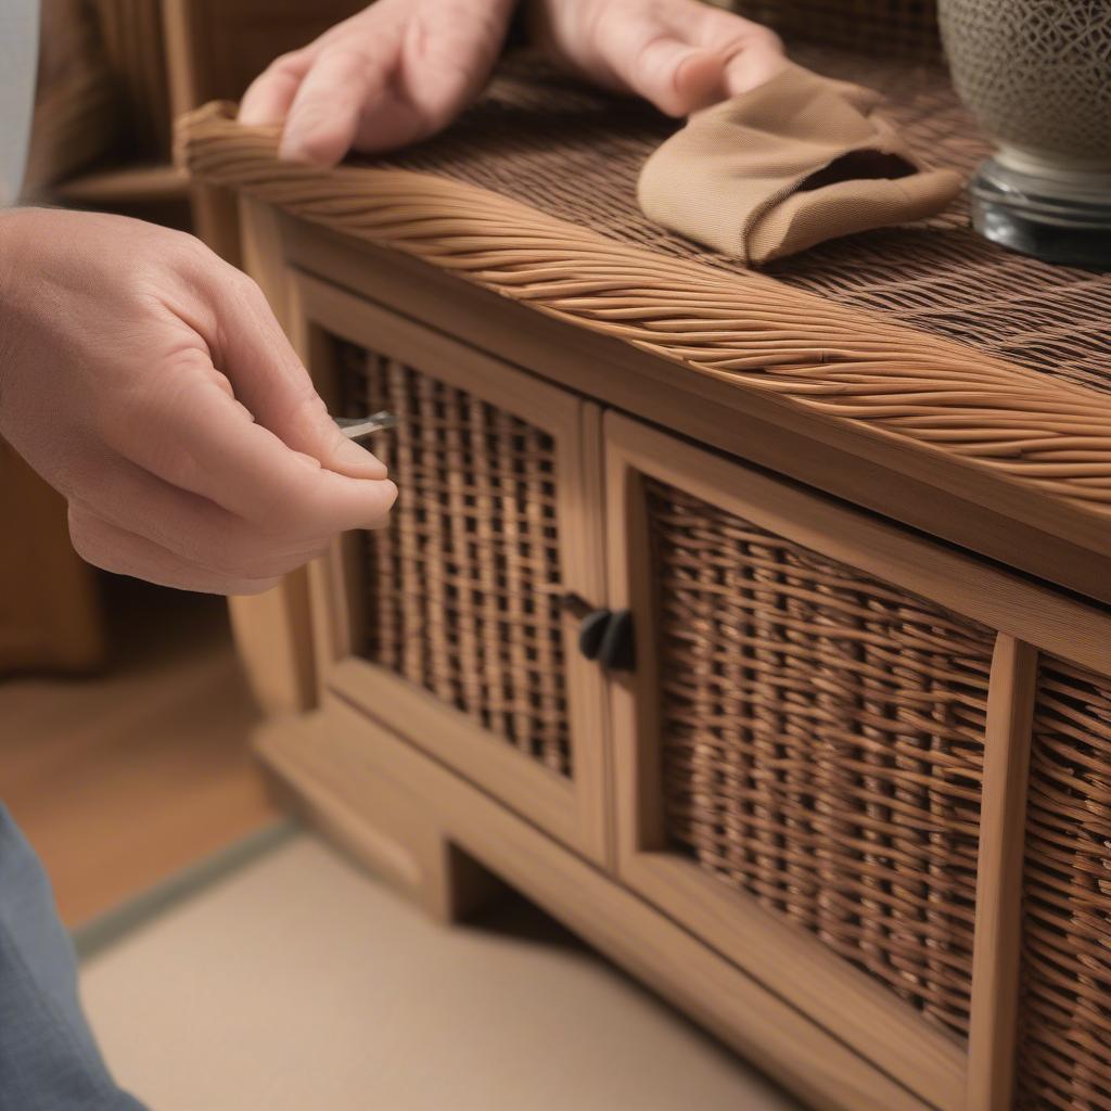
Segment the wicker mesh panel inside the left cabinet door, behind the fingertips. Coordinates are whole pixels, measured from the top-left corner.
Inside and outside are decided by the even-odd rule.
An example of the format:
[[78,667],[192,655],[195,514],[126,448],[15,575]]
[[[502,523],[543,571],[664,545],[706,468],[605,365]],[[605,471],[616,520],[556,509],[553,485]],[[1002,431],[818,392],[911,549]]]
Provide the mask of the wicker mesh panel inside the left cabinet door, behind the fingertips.
[[364,534],[361,654],[569,775],[552,438],[352,344],[336,358],[347,412],[399,419],[370,443],[399,494]]

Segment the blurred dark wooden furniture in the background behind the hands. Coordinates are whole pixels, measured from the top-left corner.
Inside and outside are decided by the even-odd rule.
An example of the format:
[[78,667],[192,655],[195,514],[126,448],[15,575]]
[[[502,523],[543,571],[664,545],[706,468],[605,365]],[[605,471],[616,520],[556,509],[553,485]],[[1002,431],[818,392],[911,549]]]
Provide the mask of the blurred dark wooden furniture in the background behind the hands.
[[[53,53],[63,57],[36,120],[31,196],[184,226],[190,187],[171,162],[174,116],[208,100],[238,100],[274,58],[362,7],[358,0],[311,7],[297,0],[49,0],[44,53],[52,39],[62,39]],[[200,207],[193,219],[203,234],[203,198]]]

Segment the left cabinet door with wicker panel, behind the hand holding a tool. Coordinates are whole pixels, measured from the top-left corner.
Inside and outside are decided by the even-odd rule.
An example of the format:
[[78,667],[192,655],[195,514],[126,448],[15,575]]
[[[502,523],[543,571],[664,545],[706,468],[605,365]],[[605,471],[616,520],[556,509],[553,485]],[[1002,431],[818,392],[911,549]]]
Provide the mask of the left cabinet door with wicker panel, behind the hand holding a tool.
[[314,279],[293,300],[331,410],[397,417],[389,523],[312,570],[324,691],[602,861],[604,688],[562,602],[604,591],[597,409]]

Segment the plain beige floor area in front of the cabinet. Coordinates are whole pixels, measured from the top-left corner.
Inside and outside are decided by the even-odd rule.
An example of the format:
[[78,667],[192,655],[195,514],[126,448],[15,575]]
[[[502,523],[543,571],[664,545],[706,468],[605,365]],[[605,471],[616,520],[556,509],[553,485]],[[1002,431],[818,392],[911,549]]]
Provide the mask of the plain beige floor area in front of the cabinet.
[[156,1111],[793,1111],[523,903],[439,927],[298,835],[91,958]]

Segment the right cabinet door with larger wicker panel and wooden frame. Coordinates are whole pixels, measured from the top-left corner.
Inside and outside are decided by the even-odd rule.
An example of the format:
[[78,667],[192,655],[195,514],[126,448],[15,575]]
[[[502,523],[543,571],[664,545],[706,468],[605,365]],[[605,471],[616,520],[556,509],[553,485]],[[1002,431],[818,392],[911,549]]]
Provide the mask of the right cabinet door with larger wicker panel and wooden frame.
[[620,877],[932,1105],[1004,1105],[967,1093],[970,1031],[985,1062],[1013,1010],[1013,634],[1075,641],[1072,603],[621,417],[604,433],[637,649],[610,683]]

